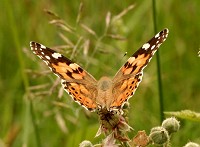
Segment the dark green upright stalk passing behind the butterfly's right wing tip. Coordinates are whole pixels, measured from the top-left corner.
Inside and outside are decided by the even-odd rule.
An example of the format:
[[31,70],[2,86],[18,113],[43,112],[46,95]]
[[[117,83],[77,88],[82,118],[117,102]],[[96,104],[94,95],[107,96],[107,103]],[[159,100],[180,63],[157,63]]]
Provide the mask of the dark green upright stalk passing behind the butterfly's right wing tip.
[[[157,33],[157,20],[156,20],[156,0],[152,0],[153,9],[153,26],[154,32]],[[160,56],[159,50],[156,53],[157,59],[157,79],[158,79],[158,93],[159,93],[159,104],[160,104],[160,123],[164,119],[164,105],[163,105],[163,89],[162,89],[162,77],[161,77],[161,67],[160,67]]]

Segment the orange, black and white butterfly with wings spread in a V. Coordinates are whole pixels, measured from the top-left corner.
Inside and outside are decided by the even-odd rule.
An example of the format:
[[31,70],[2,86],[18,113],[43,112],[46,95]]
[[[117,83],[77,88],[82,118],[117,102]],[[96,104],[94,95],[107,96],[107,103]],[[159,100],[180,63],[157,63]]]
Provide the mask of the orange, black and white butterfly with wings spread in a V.
[[36,42],[30,42],[30,47],[61,78],[64,90],[74,101],[90,111],[104,108],[112,111],[122,108],[135,93],[142,81],[143,69],[168,33],[167,28],[157,33],[127,60],[113,78],[103,76],[98,81],[60,53]]

